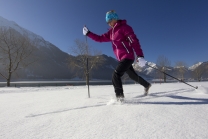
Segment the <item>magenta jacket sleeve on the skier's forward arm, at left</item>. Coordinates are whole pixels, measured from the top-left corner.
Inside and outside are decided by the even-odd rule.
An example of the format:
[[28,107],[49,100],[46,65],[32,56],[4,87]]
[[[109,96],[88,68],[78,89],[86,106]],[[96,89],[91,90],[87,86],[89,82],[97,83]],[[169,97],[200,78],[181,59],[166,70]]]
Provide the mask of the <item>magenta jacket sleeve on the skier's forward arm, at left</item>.
[[88,37],[90,37],[91,39],[93,39],[94,41],[97,41],[97,42],[109,42],[111,41],[110,40],[110,32],[106,32],[105,34],[102,34],[102,35],[97,35],[97,34],[94,34],[92,32],[89,32],[87,34]]

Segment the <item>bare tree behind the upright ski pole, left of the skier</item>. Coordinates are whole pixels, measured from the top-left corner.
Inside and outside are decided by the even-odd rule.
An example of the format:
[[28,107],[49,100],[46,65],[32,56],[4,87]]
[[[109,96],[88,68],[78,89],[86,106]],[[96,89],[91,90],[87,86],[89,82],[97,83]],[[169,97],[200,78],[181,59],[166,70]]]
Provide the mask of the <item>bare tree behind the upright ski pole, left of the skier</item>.
[[[71,69],[75,69],[78,76],[83,75],[84,73],[87,83],[89,73],[92,71],[92,69],[102,65],[104,58],[102,57],[101,52],[92,50],[92,48],[86,42],[77,39],[75,40],[75,44],[76,45],[71,47],[70,50],[74,57],[69,57],[69,67]],[[77,70],[77,68],[79,70]]]

